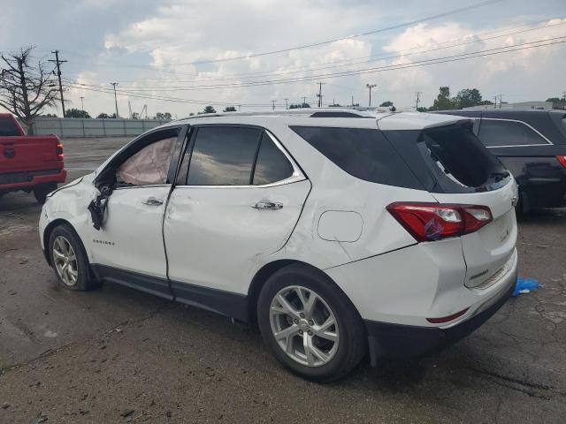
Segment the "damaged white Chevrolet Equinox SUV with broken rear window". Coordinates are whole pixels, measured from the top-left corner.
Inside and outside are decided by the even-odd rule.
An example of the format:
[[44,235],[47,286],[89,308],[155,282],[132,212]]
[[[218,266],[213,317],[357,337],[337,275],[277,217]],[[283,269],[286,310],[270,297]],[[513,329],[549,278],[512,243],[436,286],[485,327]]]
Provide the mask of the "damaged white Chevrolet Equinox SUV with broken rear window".
[[51,193],[65,287],[125,284],[256,323],[320,382],[424,354],[516,282],[516,183],[463,117],[299,110],[191,117]]

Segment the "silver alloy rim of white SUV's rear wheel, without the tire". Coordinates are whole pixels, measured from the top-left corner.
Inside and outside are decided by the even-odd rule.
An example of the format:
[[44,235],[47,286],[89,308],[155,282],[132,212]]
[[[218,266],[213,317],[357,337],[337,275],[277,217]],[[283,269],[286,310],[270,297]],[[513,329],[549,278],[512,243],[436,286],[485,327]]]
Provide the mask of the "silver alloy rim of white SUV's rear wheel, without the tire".
[[320,367],[338,351],[340,333],[332,309],[300,285],[280,290],[270,307],[272,334],[283,352],[307,367]]

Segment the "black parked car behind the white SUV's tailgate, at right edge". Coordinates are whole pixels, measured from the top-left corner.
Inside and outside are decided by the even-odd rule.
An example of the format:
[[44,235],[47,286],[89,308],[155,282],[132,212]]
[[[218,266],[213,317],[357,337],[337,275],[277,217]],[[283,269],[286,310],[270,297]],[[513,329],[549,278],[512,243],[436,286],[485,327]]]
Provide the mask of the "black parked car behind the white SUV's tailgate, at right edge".
[[447,110],[478,118],[474,133],[511,171],[519,208],[566,206],[566,112],[563,110]]

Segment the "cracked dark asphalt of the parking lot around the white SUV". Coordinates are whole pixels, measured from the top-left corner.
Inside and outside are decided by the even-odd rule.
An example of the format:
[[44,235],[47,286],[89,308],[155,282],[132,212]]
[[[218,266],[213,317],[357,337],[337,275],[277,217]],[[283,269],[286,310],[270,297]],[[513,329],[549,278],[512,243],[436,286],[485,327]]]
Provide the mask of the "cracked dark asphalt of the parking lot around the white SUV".
[[[68,181],[126,139],[64,140]],[[57,285],[34,196],[0,199],[0,422],[555,422],[566,417],[566,210],[519,223],[510,299],[419,362],[328,385],[287,373],[256,329],[142,292]],[[415,282],[418,284],[418,282]]]

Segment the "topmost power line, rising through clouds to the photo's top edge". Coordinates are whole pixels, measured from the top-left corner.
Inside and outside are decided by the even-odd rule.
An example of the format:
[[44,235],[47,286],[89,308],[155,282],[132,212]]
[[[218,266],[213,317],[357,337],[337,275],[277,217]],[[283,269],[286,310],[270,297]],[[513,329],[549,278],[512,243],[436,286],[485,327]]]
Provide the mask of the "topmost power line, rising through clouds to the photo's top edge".
[[200,61],[194,61],[194,62],[185,62],[185,63],[178,63],[178,64],[213,64],[213,63],[218,63],[218,62],[228,62],[228,61],[234,61],[234,60],[241,60],[241,59],[248,59],[250,57],[262,57],[262,56],[268,56],[268,55],[276,55],[279,53],[286,53],[288,51],[294,51],[294,50],[300,50],[300,49],[309,49],[311,47],[318,47],[318,46],[323,46],[325,44],[330,44],[333,42],[341,42],[344,40],[351,40],[354,38],[360,38],[366,35],[372,35],[372,34],[379,34],[379,33],[383,33],[386,31],[391,31],[393,29],[399,29],[402,27],[410,27],[411,25],[415,25],[415,24],[420,24],[423,22],[427,22],[429,20],[433,20],[433,19],[439,19],[439,18],[444,18],[446,16],[450,16],[450,15],[454,15],[455,13],[460,13],[463,11],[470,11],[473,9],[478,9],[479,7],[483,7],[489,4],[495,4],[495,3],[500,3],[503,0],[486,0],[484,2],[480,2],[477,4],[470,4],[469,6],[464,6],[458,9],[453,9],[452,11],[445,11],[442,13],[438,13],[436,15],[432,15],[432,16],[427,16],[425,18],[421,18],[421,19],[415,19],[415,20],[411,20],[409,22],[404,22],[402,24],[397,24],[394,25],[392,27],[384,27],[384,28],[379,28],[379,29],[373,29],[371,31],[366,31],[364,33],[360,33],[360,34],[355,34],[355,35],[348,35],[347,37],[340,37],[340,38],[334,38],[332,40],[326,40],[324,42],[313,42],[310,44],[303,44],[301,46],[295,46],[295,47],[291,47],[288,49],[279,49],[279,50],[272,50],[272,51],[264,51],[262,53],[254,53],[251,55],[246,55],[246,56],[240,56],[240,57],[223,57],[221,59],[210,59],[210,60],[200,60]]

